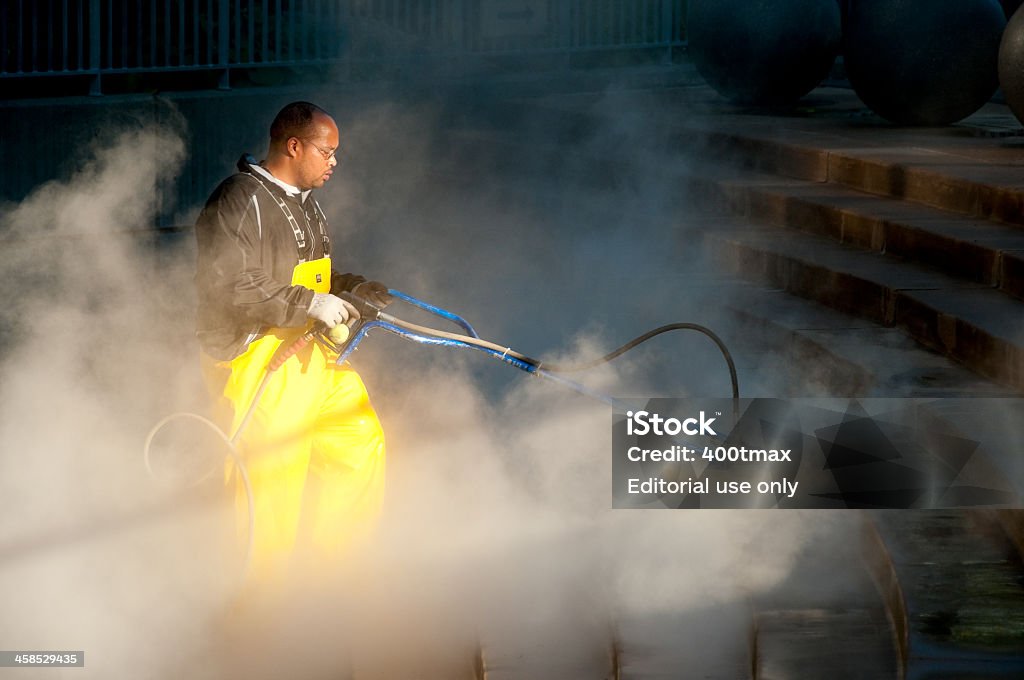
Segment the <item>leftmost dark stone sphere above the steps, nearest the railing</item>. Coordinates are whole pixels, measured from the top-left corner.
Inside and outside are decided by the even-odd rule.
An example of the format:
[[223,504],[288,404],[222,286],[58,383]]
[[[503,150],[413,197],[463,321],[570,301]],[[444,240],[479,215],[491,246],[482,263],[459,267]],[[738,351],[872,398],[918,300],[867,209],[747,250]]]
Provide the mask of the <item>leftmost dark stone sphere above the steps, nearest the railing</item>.
[[841,41],[836,0],[690,0],[697,71],[741,104],[786,104],[828,75]]

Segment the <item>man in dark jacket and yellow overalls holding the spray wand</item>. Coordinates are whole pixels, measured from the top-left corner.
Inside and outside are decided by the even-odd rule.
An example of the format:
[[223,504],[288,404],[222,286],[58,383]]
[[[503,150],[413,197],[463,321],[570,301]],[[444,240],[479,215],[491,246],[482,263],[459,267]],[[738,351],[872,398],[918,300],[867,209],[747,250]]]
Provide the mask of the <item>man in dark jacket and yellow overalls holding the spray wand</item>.
[[[270,125],[266,160],[244,156],[196,224],[197,335],[221,426],[233,436],[274,353],[313,323],[358,312],[337,297],[377,304],[387,289],[331,264],[327,218],[311,192],[337,166],[338,126],[305,101]],[[252,490],[256,582],[284,577],[297,549],[331,564],[376,517],[384,437],[359,376],[310,343],[271,374],[238,441]],[[228,481],[234,471],[228,471]],[[236,481],[240,540],[248,540],[245,490]]]

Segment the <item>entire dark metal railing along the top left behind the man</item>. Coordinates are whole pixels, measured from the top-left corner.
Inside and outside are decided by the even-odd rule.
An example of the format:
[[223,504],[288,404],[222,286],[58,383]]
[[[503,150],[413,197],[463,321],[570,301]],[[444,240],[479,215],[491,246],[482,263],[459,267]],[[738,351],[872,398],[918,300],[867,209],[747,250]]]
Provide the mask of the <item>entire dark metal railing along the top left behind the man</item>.
[[666,49],[686,0],[4,0],[0,80]]

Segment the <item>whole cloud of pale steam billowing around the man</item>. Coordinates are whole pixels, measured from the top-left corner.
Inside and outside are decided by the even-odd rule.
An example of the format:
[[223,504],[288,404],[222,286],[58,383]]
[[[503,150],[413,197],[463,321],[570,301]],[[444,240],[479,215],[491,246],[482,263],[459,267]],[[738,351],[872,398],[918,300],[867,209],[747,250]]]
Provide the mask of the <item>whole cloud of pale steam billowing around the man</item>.
[[[699,295],[679,270],[676,161],[658,152],[649,121],[615,120],[571,144],[519,121],[535,134],[508,172],[495,130],[453,124],[440,107],[339,115],[347,157],[321,199],[339,266],[464,313],[490,339],[567,359],[685,318]],[[152,513],[176,497],[141,464],[162,415],[204,408],[190,241],[155,246],[131,231],[169,190],[186,130],[139,125],[111,138],[2,220],[5,647],[84,649],[75,677],[350,669],[361,679],[455,677],[479,643],[488,665],[573,677],[606,668],[614,639],[712,611],[715,625],[699,630],[738,657],[745,598],[827,532],[799,513],[611,512],[606,407],[478,356],[372,335],[355,365],[388,437],[376,540],[336,582],[297,589],[269,612],[245,660],[224,658],[218,625],[236,577],[217,557],[227,511],[182,503]],[[561,161],[531,144],[561,144]],[[588,154],[608,144],[634,150],[636,167],[606,181]],[[651,394],[643,377],[665,371],[649,365],[676,353],[645,352],[586,381]],[[662,391],[727,384],[707,355]],[[171,463],[202,467],[184,454]]]

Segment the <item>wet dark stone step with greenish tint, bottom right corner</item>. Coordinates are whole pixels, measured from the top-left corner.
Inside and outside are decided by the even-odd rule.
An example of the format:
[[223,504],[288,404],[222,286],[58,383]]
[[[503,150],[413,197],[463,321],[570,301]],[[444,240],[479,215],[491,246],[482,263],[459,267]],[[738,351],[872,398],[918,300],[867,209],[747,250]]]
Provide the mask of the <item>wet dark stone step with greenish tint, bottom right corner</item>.
[[[907,678],[1024,676],[1024,567],[994,513],[872,513]],[[983,673],[982,673],[983,672]]]

